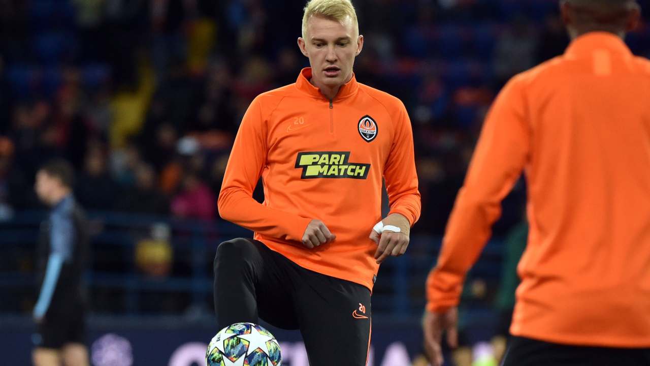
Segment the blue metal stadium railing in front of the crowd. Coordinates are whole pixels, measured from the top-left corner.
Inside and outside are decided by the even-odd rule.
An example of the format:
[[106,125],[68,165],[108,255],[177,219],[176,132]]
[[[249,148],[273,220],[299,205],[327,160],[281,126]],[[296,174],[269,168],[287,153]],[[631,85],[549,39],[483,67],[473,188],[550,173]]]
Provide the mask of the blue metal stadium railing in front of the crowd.
[[[1,317],[29,315],[36,300],[35,247],[46,212],[18,212],[0,222]],[[197,221],[118,212],[90,212],[92,232],[87,274],[91,312],[123,318],[212,317],[212,262],[218,244],[251,232],[222,220]],[[162,274],[146,274],[136,260],[138,243],[151,239],[154,225],[168,228],[172,259]],[[164,240],[163,240],[164,242]],[[413,320],[424,307],[424,281],[437,258],[441,238],[415,234],[406,255],[382,264],[372,298],[376,318]],[[164,246],[164,245],[163,245]],[[468,282],[498,286],[502,244],[491,241]],[[470,295],[471,297],[471,295]],[[490,311],[489,296],[470,301],[468,317]],[[470,320],[470,322],[473,322]]]

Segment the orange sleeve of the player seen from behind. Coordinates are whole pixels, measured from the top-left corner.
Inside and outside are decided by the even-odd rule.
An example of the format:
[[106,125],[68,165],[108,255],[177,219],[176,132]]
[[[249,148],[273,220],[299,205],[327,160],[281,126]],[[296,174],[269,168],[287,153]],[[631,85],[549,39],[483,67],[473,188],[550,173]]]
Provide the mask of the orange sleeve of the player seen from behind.
[[522,83],[518,77],[511,80],[487,115],[437,265],[426,281],[428,311],[443,312],[458,305],[465,275],[491,236],[491,226],[501,215],[501,201],[526,164],[530,124]]

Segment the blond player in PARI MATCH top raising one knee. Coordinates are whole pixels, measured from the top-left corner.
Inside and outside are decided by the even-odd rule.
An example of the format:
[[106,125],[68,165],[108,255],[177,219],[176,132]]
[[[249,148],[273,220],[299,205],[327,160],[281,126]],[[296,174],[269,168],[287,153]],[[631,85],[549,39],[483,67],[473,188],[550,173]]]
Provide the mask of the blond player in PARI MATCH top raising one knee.
[[411,124],[400,100],[357,82],[349,0],[309,1],[298,47],[311,68],[253,100],[227,164],[220,216],[255,235],[217,249],[218,328],[261,317],[299,329],[312,366],[365,365],[379,264],[406,251],[420,215]]

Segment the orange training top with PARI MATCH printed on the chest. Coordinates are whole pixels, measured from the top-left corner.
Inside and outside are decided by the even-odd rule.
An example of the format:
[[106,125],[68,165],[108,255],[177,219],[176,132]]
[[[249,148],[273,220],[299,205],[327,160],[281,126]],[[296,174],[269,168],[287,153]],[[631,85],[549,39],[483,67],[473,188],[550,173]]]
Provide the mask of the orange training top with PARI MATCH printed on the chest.
[[[260,94],[248,107],[219,214],[304,268],[372,290],[379,266],[369,235],[382,219],[382,178],[391,213],[411,225],[420,216],[411,122],[400,100],[354,76],[332,101],[309,78],[305,68],[296,83]],[[260,176],[261,204],[252,198]],[[323,221],[336,239],[302,246],[311,219]]]

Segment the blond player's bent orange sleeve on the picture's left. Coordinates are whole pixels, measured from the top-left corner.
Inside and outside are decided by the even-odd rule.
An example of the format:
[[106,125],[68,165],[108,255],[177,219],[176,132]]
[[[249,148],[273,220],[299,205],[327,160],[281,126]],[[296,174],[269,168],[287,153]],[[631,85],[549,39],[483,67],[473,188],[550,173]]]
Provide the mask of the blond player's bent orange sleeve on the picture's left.
[[221,218],[265,236],[300,242],[311,219],[270,208],[253,199],[266,165],[266,120],[260,98],[248,107],[239,126],[218,199]]

